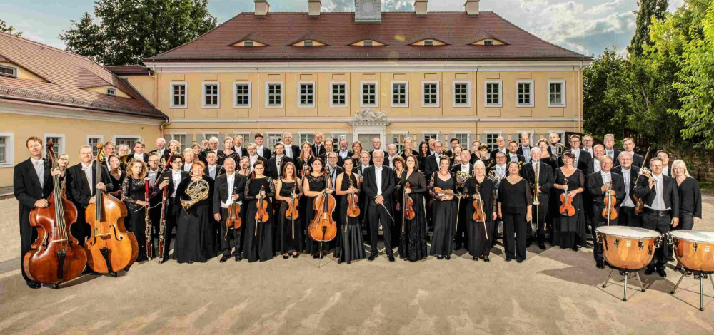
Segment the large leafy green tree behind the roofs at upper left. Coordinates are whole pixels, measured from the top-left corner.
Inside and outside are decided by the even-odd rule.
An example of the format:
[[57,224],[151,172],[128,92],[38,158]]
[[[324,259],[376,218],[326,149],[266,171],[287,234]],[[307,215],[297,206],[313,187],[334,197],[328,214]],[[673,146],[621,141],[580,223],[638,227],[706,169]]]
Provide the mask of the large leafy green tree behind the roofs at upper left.
[[208,0],[99,0],[59,38],[67,51],[104,65],[141,63],[216,26]]

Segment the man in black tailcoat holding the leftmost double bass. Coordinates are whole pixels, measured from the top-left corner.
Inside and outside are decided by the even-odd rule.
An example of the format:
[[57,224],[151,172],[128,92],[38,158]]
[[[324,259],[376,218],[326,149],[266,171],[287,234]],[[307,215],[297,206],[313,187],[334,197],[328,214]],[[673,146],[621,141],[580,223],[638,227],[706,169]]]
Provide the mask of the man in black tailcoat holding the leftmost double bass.
[[[12,174],[12,189],[15,199],[20,202],[20,270],[27,286],[39,289],[39,282],[27,277],[23,266],[25,254],[30,251],[32,242],[37,239],[37,231],[30,226],[30,211],[35,207],[49,205],[47,197],[52,192],[51,165],[42,159],[42,140],[31,137],[25,142],[30,158],[15,165]],[[59,175],[59,170],[56,172]]]

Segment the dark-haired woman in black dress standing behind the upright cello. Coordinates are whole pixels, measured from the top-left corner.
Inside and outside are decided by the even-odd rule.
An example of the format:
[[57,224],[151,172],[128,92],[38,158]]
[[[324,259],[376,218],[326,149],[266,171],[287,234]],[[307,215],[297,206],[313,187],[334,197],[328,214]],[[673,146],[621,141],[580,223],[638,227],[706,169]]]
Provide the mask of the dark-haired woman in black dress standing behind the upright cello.
[[[313,207],[313,201],[315,197],[323,195],[323,193],[332,194],[332,181],[328,178],[326,173],[323,173],[323,163],[321,158],[314,158],[311,164],[312,172],[310,172],[307,177],[303,179],[303,190],[305,190],[306,195],[306,212],[305,212],[305,225],[309,227],[310,222],[315,217],[315,210]],[[323,254],[320,253],[320,243],[314,241],[308,234],[306,237],[306,249],[312,254],[313,258],[322,258],[324,253],[328,251],[327,243],[322,246]]]

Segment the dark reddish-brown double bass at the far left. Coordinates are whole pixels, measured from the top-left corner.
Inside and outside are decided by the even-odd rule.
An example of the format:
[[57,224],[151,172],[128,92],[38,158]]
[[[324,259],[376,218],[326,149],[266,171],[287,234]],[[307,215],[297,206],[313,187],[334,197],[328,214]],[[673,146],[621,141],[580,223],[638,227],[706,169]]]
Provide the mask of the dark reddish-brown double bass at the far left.
[[[57,168],[51,141],[47,142],[47,158],[52,169]],[[37,239],[22,260],[27,277],[44,284],[68,282],[81,274],[87,264],[87,256],[70,227],[77,220],[77,207],[64,197],[59,176],[52,176],[53,191],[44,208],[35,207],[30,212],[30,226],[37,227]]]

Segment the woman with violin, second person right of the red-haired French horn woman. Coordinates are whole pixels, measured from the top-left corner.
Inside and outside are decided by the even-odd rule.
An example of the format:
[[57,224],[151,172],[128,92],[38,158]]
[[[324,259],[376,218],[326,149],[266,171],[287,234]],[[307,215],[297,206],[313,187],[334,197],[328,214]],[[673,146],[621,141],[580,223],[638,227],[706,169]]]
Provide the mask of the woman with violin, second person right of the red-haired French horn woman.
[[[262,160],[256,160],[253,163],[253,172],[251,177],[246,182],[245,199],[248,202],[246,205],[246,237],[244,240],[245,256],[249,263],[261,261],[265,262],[273,259],[273,206],[271,198],[275,195],[275,184],[271,177],[264,175],[266,164]],[[258,213],[258,196],[268,202],[267,210],[268,220],[258,222],[256,214]],[[261,207],[263,204],[259,204]]]

